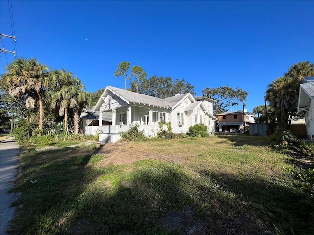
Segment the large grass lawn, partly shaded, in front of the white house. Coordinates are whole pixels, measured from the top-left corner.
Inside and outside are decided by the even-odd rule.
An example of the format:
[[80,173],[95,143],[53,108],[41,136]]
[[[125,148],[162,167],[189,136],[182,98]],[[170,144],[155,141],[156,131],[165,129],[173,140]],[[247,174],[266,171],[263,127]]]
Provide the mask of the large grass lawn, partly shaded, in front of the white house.
[[282,169],[298,161],[264,137],[64,147],[21,160],[12,235],[314,234],[305,195]]

